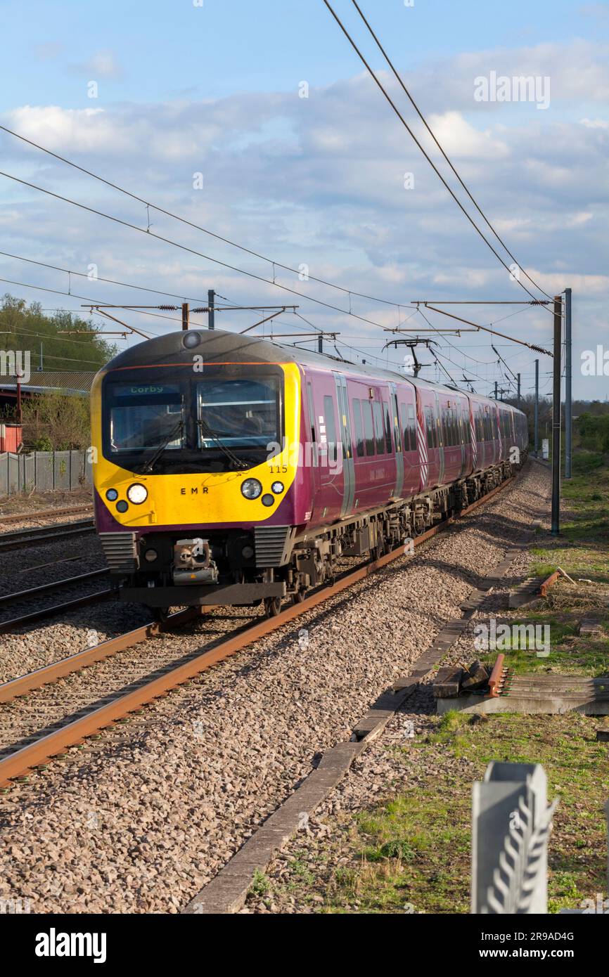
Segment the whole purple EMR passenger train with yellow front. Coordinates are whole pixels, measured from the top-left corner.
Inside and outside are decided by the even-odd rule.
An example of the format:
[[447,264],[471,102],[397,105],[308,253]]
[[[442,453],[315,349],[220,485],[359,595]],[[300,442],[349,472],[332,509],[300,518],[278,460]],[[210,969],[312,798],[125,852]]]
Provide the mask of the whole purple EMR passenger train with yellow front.
[[520,468],[524,413],[368,363],[213,329],[139,343],[92,392],[96,529],[121,600],[302,601]]

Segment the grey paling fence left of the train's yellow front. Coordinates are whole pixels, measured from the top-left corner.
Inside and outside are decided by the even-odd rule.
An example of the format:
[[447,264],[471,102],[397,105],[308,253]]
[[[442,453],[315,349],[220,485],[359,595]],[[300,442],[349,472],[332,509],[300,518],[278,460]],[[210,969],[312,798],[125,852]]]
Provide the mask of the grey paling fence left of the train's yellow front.
[[92,485],[92,481],[85,450],[0,454],[0,498],[19,492],[80,488]]

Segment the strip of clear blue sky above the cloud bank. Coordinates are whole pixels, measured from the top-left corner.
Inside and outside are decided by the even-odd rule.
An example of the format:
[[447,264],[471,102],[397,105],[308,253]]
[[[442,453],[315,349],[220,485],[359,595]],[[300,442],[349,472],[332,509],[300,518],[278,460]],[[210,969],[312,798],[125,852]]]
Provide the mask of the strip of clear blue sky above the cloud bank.
[[[410,68],[464,51],[563,44],[575,37],[609,41],[602,6],[414,0],[407,8],[404,0],[369,0],[363,9],[400,66]],[[348,0],[337,0],[334,8],[362,36]],[[104,50],[120,65],[119,76],[104,81],[109,101],[289,91],[304,77],[311,85],[327,85],[359,70],[321,0],[203,0],[202,7],[192,0],[30,0],[27,30],[22,0],[3,2],[0,9],[8,41],[4,109],[16,98],[37,103],[42,93],[52,104],[84,106],[79,66]]]

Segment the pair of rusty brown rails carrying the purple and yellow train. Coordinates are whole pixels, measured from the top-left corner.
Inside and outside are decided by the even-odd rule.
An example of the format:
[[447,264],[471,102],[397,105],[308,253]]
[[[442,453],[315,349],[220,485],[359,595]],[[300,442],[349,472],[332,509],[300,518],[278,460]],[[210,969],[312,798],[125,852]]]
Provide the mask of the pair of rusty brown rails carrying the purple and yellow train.
[[[494,488],[464,509],[460,516],[473,512],[513,482],[514,478],[507,479],[498,488]],[[426,542],[454,522],[455,518],[452,517],[421,533],[414,539],[414,545],[419,546]],[[126,690],[123,689],[116,694],[107,696],[102,701],[84,706],[71,716],[66,717],[65,720],[55,723],[53,727],[39,730],[38,733],[24,738],[21,743],[0,750],[0,787],[7,788],[13,781],[22,781],[30,771],[44,768],[46,762],[52,757],[62,756],[69,746],[83,743],[88,737],[96,736],[101,730],[116,722],[125,721],[130,714],[141,711],[143,706],[166,696],[178,686],[187,684],[217,662],[236,655],[258,639],[282,627],[283,624],[306,614],[329,598],[341,593],[359,580],[365,579],[371,573],[375,573],[403,555],[404,548],[400,546],[373,562],[369,562],[352,572],[346,572],[332,584],[323,586],[304,601],[286,608],[280,615],[265,619],[256,617],[241,626],[237,633],[212,641],[191,655],[163,665],[145,678],[133,682]],[[98,661],[147,641],[153,636],[169,631],[176,625],[187,623],[197,617],[208,616],[213,610],[209,607],[187,609],[169,616],[167,621],[162,624],[150,622],[94,648],[85,649],[69,658],[64,658],[22,675],[0,685],[0,703],[9,703],[18,697],[26,696],[44,685],[57,682],[71,673],[78,672]],[[246,618],[243,619],[246,620]]]

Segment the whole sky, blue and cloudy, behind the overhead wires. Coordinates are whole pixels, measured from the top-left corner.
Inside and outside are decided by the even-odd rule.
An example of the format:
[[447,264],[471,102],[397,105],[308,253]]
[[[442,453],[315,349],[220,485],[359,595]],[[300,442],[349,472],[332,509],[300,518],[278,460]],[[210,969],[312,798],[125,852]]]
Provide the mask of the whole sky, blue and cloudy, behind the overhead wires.
[[[511,266],[388,73],[352,0],[332,6],[464,209]],[[515,276],[536,298],[573,289],[574,396],[604,400],[609,5],[360,6],[516,259]],[[297,304],[307,321],[285,312],[273,322],[276,334],[337,332],[336,347],[326,340],[326,350],[356,361],[403,364],[405,347],[383,347],[406,334],[387,330],[415,327],[437,343],[434,356],[419,347],[419,359],[430,363],[421,375],[450,375],[459,385],[467,377],[481,393],[492,393],[496,381],[510,389],[510,371],[521,373],[522,392],[531,393],[537,358],[542,393],[549,392],[549,357],[484,332],[437,334],[458,323],[431,312],[426,322],[412,306],[529,296],[459,210],[323,0],[0,0],[0,23],[0,124],[151,204],[147,209],[0,132],[4,173],[115,218],[0,176],[0,249],[74,273],[0,255],[0,278],[10,279],[0,281],[0,293],[83,312],[87,301],[202,305],[214,288],[220,305]],[[536,79],[536,90],[516,90],[511,79],[524,76]],[[507,79],[507,101],[492,98],[494,78]],[[340,287],[307,279],[307,271]],[[542,307],[443,308],[551,348],[552,317]],[[120,314],[150,334],[179,328],[176,315]],[[204,324],[205,317],[193,321]],[[255,321],[249,311],[216,316],[218,327],[234,330]],[[598,346],[598,375],[584,375],[582,354]]]

